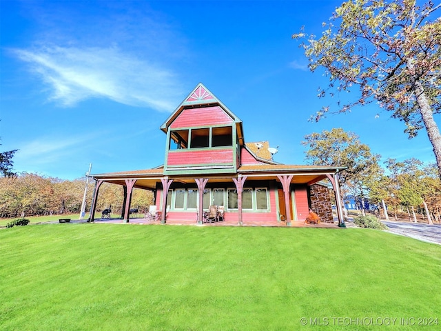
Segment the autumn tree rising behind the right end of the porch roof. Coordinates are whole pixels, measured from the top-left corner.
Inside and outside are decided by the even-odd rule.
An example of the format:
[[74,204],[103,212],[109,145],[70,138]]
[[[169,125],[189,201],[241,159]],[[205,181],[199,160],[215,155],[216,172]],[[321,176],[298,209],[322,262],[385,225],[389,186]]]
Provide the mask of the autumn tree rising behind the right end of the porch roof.
[[342,128],[307,134],[302,145],[309,147],[305,152],[309,164],[347,167],[339,174],[344,193],[351,192],[356,197],[364,198],[367,183],[380,172],[380,155],[372,154],[369,146],[361,143],[357,134],[345,132]]

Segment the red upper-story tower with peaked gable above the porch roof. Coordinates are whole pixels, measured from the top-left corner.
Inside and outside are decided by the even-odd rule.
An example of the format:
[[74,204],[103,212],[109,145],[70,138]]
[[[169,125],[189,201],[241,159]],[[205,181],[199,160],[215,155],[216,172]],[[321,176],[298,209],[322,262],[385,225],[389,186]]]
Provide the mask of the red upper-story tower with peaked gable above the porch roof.
[[236,173],[242,121],[202,83],[163,123],[167,134],[164,174]]

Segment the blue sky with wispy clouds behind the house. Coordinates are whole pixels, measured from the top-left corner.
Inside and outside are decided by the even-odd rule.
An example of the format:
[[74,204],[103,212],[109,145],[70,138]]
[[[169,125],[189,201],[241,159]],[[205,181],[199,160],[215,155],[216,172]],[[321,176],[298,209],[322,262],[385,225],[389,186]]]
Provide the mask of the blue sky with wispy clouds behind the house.
[[340,3],[1,0],[0,150],[19,149],[18,172],[61,179],[89,163],[153,168],[164,161],[159,126],[202,82],[243,121],[245,141],[279,146],[280,163],[304,164],[305,134],[331,128],[383,160],[435,162],[424,130],[409,140],[373,105],[308,121],[329,103],[316,97],[327,79],[291,35],[320,34]]

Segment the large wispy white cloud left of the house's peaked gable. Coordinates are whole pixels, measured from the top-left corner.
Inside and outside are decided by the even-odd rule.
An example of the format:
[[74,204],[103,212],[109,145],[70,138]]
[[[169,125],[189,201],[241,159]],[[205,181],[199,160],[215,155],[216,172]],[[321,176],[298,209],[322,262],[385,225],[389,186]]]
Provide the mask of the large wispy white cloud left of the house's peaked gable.
[[181,90],[175,74],[119,48],[45,47],[14,50],[52,88],[50,100],[63,106],[103,97],[129,106],[174,110]]

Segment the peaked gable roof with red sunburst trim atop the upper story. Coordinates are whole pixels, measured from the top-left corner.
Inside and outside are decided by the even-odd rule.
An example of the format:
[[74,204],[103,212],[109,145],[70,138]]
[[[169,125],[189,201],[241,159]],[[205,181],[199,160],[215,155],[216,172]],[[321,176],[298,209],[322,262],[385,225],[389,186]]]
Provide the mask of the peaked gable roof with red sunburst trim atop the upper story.
[[243,126],[242,120],[240,120],[236,114],[234,114],[227,106],[225,106],[222,101],[220,101],[210,90],[208,90],[203,83],[198,83],[196,87],[190,92],[184,101],[170,114],[170,116],[165,120],[165,122],[159,127],[163,132],[167,133],[170,125],[173,121],[183,112],[183,110],[188,108],[201,108],[209,106],[220,106],[220,108],[225,111],[229,117],[233,119],[236,123],[236,131],[239,137],[240,145],[243,145]]

